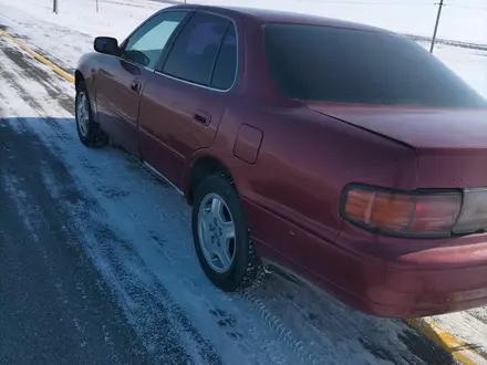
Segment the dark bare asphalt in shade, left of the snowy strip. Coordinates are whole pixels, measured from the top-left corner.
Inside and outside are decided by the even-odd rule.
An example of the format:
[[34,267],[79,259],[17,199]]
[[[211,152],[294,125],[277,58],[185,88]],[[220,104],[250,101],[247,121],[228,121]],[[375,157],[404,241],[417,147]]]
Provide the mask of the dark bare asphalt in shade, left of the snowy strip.
[[[146,364],[147,356],[77,233],[42,184],[66,167],[32,134],[0,122],[0,363]],[[75,188],[70,199],[83,199]],[[170,356],[170,351],[168,357]]]

